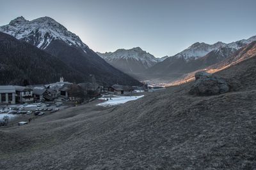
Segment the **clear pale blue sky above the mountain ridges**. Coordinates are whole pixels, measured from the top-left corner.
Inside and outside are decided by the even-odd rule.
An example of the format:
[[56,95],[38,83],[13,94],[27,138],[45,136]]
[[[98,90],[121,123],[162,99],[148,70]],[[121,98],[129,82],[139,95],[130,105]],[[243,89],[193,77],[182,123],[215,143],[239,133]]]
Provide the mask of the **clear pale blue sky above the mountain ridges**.
[[95,52],[140,46],[155,57],[195,42],[256,35],[255,0],[0,0],[0,25],[51,17]]

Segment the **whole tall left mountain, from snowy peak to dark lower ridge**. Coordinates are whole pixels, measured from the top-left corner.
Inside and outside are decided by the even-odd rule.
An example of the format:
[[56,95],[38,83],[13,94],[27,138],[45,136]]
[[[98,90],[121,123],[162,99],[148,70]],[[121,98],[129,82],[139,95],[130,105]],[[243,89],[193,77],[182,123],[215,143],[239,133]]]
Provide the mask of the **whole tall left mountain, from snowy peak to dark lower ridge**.
[[[91,81],[94,75],[102,85],[115,83],[124,85],[141,85],[138,80],[122,73],[99,57],[87,45],[50,17],[28,21],[24,17],[15,18],[8,25],[0,27],[1,32],[26,41],[45,52],[56,56],[74,71],[82,74],[81,81]],[[65,75],[63,75],[65,78]]]

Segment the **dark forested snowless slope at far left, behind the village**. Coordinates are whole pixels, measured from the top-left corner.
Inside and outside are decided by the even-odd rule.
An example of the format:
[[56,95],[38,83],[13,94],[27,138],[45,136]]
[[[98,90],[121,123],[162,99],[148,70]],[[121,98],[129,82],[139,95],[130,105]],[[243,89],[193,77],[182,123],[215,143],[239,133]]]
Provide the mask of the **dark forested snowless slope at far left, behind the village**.
[[52,83],[60,76],[72,82],[84,80],[57,57],[0,32],[0,84],[24,85],[24,83]]

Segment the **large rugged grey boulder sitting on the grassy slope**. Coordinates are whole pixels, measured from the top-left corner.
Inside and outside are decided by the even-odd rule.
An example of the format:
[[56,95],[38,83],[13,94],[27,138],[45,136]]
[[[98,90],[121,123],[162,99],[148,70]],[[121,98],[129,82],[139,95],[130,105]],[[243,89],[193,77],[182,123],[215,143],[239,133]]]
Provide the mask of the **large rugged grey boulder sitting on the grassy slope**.
[[198,96],[210,96],[230,92],[230,85],[220,76],[206,72],[195,73],[195,83],[189,90],[189,94]]

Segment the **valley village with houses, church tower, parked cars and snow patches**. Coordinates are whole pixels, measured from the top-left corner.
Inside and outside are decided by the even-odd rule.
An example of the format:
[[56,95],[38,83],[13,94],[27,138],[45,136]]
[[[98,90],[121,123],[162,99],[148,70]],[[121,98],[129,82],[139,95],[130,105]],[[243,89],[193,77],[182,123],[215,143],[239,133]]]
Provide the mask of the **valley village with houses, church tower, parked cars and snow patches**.
[[[143,85],[127,86],[112,85],[110,87],[99,86],[92,83],[70,83],[60,81],[47,85],[1,85],[0,86],[0,126],[12,124],[28,124],[33,118],[48,113],[54,113],[65,108],[86,104],[95,99],[100,102],[97,106],[113,106],[127,101],[139,99],[145,92],[164,89]],[[14,118],[24,120],[12,121]],[[25,121],[26,120],[26,121]]]

